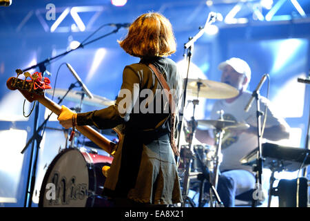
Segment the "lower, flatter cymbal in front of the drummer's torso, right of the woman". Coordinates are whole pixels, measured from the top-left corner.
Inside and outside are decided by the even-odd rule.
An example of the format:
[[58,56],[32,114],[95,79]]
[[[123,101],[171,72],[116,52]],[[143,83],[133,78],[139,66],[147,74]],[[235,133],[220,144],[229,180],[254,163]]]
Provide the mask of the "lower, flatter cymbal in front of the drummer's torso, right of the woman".
[[218,130],[245,130],[249,128],[249,124],[235,122],[233,120],[227,119],[198,119],[199,125],[207,126],[210,129],[218,129]]

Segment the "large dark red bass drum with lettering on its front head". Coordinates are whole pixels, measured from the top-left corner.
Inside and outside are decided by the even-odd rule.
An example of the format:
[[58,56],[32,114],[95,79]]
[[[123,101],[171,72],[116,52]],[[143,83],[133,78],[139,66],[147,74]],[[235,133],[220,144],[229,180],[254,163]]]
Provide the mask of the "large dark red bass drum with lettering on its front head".
[[102,167],[110,166],[112,160],[96,151],[76,148],[61,151],[43,178],[39,207],[110,206],[101,196],[105,183]]

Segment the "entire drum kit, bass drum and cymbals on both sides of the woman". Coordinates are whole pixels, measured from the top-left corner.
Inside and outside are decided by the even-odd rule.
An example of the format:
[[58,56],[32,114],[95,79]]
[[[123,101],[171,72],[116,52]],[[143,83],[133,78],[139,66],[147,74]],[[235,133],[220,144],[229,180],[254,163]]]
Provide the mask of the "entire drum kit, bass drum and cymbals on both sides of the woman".
[[[103,108],[114,104],[114,101],[93,95],[90,99],[83,96],[83,91],[67,90],[56,88],[45,90],[49,95],[65,97],[68,101]],[[193,102],[198,105],[198,97],[207,99],[229,99],[238,95],[238,90],[227,84],[206,79],[188,79],[187,92],[196,96]],[[81,109],[81,106],[80,106]],[[220,119],[194,119],[191,124],[191,138],[194,137],[196,125],[205,126],[216,131],[216,145],[206,144],[192,145],[189,139],[187,145],[180,147],[180,165],[178,172],[181,177],[181,188],[183,189],[183,205],[187,203],[194,205],[192,199],[187,195],[191,187],[191,180],[200,181],[199,206],[203,201],[203,183],[205,180],[211,184],[210,205],[223,206],[216,192],[218,184],[218,173],[221,162],[221,143],[223,134],[227,129],[242,130],[248,128],[247,124],[223,119],[223,112],[220,112]],[[111,130],[112,131],[112,130]],[[116,134],[109,131],[101,131],[107,135]],[[79,137],[79,136],[78,136]],[[81,144],[77,142],[76,144]],[[41,184],[39,206],[109,206],[109,202],[101,196],[105,176],[102,173],[103,166],[110,166],[113,158],[110,155],[98,153],[99,147],[92,142],[84,142],[81,147],[71,144],[68,148],[61,150],[48,166],[43,182]],[[216,200],[214,200],[214,197]]]

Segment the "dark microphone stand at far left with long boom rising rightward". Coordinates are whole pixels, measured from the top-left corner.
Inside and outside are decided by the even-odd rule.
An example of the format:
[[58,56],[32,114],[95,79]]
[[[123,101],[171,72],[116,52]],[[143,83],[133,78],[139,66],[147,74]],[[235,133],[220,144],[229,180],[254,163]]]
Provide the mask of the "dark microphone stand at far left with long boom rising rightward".
[[[44,72],[46,70],[46,66],[45,64],[49,64],[50,61],[58,58],[58,57],[63,57],[65,55],[68,55],[70,52],[77,50],[79,48],[84,48],[84,46],[86,46],[87,44],[91,44],[94,41],[98,41],[99,39],[102,39],[103,37],[107,37],[108,35],[112,35],[116,32],[118,32],[118,30],[121,28],[121,26],[116,26],[116,29],[112,30],[112,32],[109,32],[105,35],[102,35],[101,37],[97,37],[96,39],[93,39],[92,41],[87,41],[84,44],[80,44],[79,47],[68,50],[66,52],[63,52],[60,55],[56,55],[55,57],[51,57],[51,58],[47,58],[44,61],[39,62],[38,64],[35,64],[33,66],[30,66],[28,68],[23,69],[23,72],[27,71],[27,70],[31,70],[33,68],[38,68],[40,72],[42,73],[42,77],[44,77]],[[73,86],[71,85],[70,87],[73,88]],[[72,89],[71,88],[71,89]],[[70,90],[71,90],[70,89]],[[69,91],[68,91],[69,92]],[[65,94],[67,95],[68,92]],[[62,99],[61,99],[62,101]],[[31,139],[27,142],[25,148],[23,148],[23,150],[21,151],[21,153],[24,153],[24,151],[26,150],[26,148],[28,148],[28,146],[30,145],[30,143],[32,142],[32,146],[31,146],[31,153],[30,153],[30,164],[29,164],[29,169],[28,169],[28,178],[27,178],[27,186],[26,186],[26,193],[25,193],[25,200],[24,200],[24,207],[28,207],[28,206],[32,206],[32,195],[33,195],[33,191],[34,191],[34,182],[35,182],[35,175],[36,175],[36,171],[37,171],[37,160],[38,160],[38,154],[39,154],[39,148],[40,148],[40,143],[42,140],[42,135],[39,135],[39,131],[41,131],[41,129],[43,128],[43,125],[46,124],[46,122],[48,122],[48,119],[45,119],[45,121],[43,122],[43,124],[41,126],[38,126],[39,123],[39,102],[37,102],[37,104],[35,104],[35,109],[34,109],[34,135],[31,137]],[[37,142],[36,148],[34,148],[34,143]],[[35,152],[35,154],[34,154]],[[32,160],[34,161],[34,163],[32,164]]]

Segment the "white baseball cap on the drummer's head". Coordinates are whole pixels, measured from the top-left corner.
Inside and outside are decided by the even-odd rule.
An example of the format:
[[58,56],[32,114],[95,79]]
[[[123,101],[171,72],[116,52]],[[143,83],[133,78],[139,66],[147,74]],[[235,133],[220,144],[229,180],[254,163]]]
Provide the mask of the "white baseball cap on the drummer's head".
[[247,64],[247,62],[243,61],[238,57],[231,57],[226,61],[223,61],[218,65],[218,69],[224,70],[225,66],[230,65],[236,72],[245,75],[247,77],[247,82],[251,80],[251,68]]

